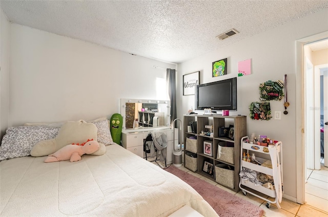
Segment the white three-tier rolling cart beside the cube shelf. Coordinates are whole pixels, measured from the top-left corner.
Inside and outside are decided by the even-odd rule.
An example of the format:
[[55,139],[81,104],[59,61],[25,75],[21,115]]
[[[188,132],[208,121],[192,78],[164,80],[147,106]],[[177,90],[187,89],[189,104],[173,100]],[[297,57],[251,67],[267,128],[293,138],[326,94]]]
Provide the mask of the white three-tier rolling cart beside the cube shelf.
[[[244,195],[246,195],[248,192],[249,194],[254,195],[255,197],[267,201],[267,205],[266,205],[267,208],[270,207],[271,203],[275,203],[277,207],[280,208],[279,203],[281,203],[283,189],[282,189],[282,158],[280,159],[279,154],[282,157],[282,142],[278,141],[274,145],[269,145],[268,147],[265,147],[265,146],[259,146],[258,144],[245,142],[244,141],[245,139],[248,139],[248,136],[241,138],[240,170],[242,170],[242,167],[245,167],[253,171],[272,176],[274,180],[275,190],[267,187],[263,187],[259,184],[255,184],[254,182],[247,179],[243,179],[242,177],[240,177],[239,188],[242,190]],[[258,161],[259,164],[242,160],[243,152],[245,152],[246,155],[247,153],[249,153],[251,156],[255,154],[256,156],[255,159],[256,161]],[[263,166],[263,163],[268,162],[268,160],[271,161],[272,168]],[[248,187],[248,189],[245,187]],[[254,189],[255,191],[254,190],[251,191],[249,188]],[[264,195],[268,195],[271,198],[275,198],[275,200],[271,201],[267,198],[263,198],[259,194],[257,194],[257,192],[260,192]]]

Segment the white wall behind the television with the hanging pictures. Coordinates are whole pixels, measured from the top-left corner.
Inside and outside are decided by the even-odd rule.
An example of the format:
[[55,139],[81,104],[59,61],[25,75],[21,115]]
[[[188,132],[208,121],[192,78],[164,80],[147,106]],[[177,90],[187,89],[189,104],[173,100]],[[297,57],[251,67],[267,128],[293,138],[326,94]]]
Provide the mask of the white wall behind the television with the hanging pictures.
[[[320,20],[320,25],[318,24]],[[177,96],[182,96],[182,75],[200,70],[200,84],[237,77],[238,62],[252,59],[252,75],[238,77],[238,111],[232,114],[247,115],[248,135],[267,135],[283,144],[283,185],[284,197],[296,199],[296,40],[328,30],[328,9],[321,10],[304,18],[285,23],[273,30],[244,39],[206,55],[178,65]],[[229,39],[226,39],[229,40]],[[228,75],[212,78],[212,62],[228,58]],[[288,77],[288,114],[284,115],[283,101],[270,101],[272,114],[281,111],[281,120],[252,120],[249,105],[259,101],[258,87],[268,80],[282,80]],[[182,96],[177,102],[178,118],[194,106],[194,95]]]

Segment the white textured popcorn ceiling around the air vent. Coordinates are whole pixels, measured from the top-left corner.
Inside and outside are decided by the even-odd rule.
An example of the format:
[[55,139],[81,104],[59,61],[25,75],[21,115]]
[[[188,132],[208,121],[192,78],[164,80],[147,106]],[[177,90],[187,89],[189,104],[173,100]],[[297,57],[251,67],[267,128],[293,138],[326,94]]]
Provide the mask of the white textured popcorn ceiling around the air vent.
[[[179,63],[328,8],[328,1],[4,1],[13,23]],[[219,40],[230,29],[240,32]]]

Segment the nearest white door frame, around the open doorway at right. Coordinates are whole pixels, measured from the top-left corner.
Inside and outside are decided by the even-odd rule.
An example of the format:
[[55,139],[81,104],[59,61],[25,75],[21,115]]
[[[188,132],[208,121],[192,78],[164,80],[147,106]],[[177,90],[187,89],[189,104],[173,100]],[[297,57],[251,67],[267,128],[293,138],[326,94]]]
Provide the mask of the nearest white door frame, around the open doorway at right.
[[328,38],[328,31],[296,41],[296,202],[305,203],[304,165],[304,59],[305,43]]

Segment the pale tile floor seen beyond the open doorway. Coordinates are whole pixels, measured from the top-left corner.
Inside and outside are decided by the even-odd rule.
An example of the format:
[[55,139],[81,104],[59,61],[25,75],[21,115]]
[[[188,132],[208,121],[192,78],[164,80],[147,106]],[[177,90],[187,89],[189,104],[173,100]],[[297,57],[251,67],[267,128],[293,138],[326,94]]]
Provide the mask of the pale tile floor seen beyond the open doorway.
[[321,158],[321,170],[306,170],[305,202],[328,212],[328,167]]

